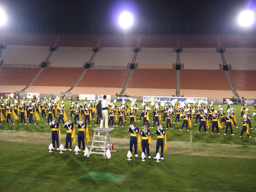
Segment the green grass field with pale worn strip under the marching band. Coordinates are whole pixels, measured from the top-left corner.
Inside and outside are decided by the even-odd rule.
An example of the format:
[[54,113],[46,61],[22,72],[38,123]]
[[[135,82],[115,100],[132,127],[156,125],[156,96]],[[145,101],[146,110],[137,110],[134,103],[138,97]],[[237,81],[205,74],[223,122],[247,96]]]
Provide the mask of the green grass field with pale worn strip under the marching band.
[[[66,103],[69,104],[68,101]],[[117,102],[119,105],[120,102]],[[20,120],[14,120],[15,125],[5,125],[4,120],[0,126],[0,191],[255,191],[255,119],[251,119],[253,129],[249,130],[252,138],[245,134],[239,137],[241,106],[232,107],[236,109],[238,125],[234,128],[234,136],[230,131],[224,135],[224,128],[220,134],[216,130],[211,134],[211,126],[208,133],[203,130],[197,133],[199,123],[195,125],[195,119],[189,131],[180,131],[181,120],[180,124],[172,124],[172,130],[167,130],[167,152],[160,163],[154,159],[142,162],[141,150],[138,151],[139,157],[133,156],[132,161],[127,161],[130,138],[128,118],[124,127],[115,127],[112,131],[111,141],[117,152],[111,153],[111,159],[105,160],[102,155],[93,154],[87,158],[83,153],[75,155],[74,151],[48,153],[52,140],[51,129],[45,124],[46,118],[35,120],[36,125],[26,126],[19,125]],[[66,105],[69,118],[68,108],[69,105]],[[223,108],[226,110],[226,106]],[[248,108],[252,114],[253,106]],[[139,115],[140,111],[137,120]],[[149,118],[152,121],[152,113]],[[88,126],[91,140],[92,129],[97,127],[95,122],[96,118]],[[137,122],[138,127],[141,128],[142,123]],[[153,123],[150,122],[150,125]],[[60,144],[65,145],[64,128],[61,133]],[[156,134],[152,134],[151,156],[155,155],[155,140]],[[73,144],[73,150],[75,145],[77,143]],[[91,142],[86,144],[86,147],[90,146]],[[126,176],[121,183],[81,178],[92,171]]]

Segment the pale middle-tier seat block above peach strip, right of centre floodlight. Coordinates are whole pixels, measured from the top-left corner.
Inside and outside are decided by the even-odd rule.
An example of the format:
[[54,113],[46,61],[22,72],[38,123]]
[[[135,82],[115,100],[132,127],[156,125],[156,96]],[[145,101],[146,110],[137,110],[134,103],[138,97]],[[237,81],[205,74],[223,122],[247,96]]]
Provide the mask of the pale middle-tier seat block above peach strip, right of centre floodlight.
[[138,52],[137,63],[157,63],[172,64],[176,63],[175,52]]

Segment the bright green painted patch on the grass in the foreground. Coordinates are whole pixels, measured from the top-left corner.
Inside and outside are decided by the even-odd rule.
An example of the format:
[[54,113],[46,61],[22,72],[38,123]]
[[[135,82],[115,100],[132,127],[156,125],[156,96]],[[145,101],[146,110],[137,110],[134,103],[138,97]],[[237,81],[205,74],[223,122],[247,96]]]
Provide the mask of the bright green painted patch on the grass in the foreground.
[[119,175],[115,173],[107,173],[107,172],[89,172],[81,178],[85,179],[95,179],[95,180],[105,180],[105,181],[115,181],[115,182],[123,182],[125,175]]

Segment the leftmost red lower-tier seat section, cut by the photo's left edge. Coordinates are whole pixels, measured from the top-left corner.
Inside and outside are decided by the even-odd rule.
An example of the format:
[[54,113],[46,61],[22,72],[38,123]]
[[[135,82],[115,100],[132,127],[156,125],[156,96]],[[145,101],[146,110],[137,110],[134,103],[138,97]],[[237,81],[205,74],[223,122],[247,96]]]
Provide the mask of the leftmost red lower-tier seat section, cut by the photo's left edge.
[[27,86],[40,68],[0,67],[0,84]]

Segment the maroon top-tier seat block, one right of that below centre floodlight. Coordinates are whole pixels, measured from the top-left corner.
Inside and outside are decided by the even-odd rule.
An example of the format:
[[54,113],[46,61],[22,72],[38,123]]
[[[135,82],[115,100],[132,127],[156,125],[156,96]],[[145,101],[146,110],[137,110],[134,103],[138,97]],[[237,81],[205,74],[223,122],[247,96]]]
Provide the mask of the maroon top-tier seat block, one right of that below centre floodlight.
[[153,35],[147,36],[143,35],[140,39],[140,47],[176,47],[177,45],[177,36],[169,35]]

